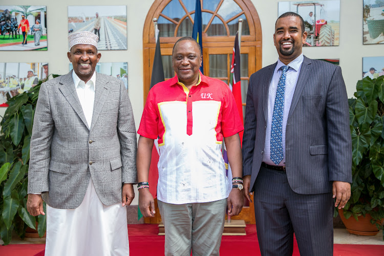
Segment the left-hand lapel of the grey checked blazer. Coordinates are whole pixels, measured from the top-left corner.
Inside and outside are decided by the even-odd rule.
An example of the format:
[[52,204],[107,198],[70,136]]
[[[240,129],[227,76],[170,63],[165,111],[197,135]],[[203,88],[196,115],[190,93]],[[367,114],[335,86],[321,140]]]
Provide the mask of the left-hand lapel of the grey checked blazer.
[[71,104],[72,108],[76,112],[76,114],[80,117],[81,121],[88,127],[86,116],[84,116],[84,112],[82,111],[82,107],[79,101],[79,97],[77,96],[76,87],[72,79],[72,72],[69,72],[66,75],[60,76],[60,86],[59,90],[66,97],[68,102]]

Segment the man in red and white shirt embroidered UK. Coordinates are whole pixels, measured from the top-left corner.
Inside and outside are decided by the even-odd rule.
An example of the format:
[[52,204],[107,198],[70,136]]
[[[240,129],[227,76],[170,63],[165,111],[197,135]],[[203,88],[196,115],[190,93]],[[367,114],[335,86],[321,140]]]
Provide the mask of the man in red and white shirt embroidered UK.
[[[146,100],[138,131],[138,181],[148,181],[159,138],[157,198],[165,255],[219,255],[227,204],[229,216],[243,206],[242,185],[228,181],[221,147],[224,138],[232,176],[242,177],[238,133],[244,128],[227,84],[199,72],[202,54],[195,39],[180,38],[172,62],[176,76],[156,84]],[[139,189],[139,207],[144,217],[154,216],[147,187]]]

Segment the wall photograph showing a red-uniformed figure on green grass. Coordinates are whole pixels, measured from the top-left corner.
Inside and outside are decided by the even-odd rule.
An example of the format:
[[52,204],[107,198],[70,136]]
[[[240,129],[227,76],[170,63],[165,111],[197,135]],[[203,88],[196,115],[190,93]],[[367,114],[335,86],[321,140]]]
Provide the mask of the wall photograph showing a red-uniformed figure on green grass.
[[47,51],[46,6],[0,6],[0,50]]

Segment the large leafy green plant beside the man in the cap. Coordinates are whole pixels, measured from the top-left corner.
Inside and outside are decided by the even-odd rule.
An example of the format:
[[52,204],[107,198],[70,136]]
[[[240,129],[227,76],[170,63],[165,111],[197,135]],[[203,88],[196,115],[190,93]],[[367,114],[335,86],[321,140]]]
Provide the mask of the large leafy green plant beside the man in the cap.
[[24,238],[27,227],[36,229],[38,223],[38,235],[42,237],[47,227],[46,216],[33,217],[26,207],[29,146],[41,83],[9,99],[0,123],[0,238],[6,245],[13,230]]

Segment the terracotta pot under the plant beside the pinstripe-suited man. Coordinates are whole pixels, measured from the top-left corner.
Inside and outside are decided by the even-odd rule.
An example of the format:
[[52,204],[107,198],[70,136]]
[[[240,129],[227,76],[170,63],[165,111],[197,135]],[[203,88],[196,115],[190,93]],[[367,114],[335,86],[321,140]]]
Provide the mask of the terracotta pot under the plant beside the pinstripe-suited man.
[[371,223],[372,218],[369,214],[366,214],[366,217],[358,216],[358,221],[356,221],[353,216],[349,217],[349,219],[346,219],[344,217],[343,209],[339,209],[338,214],[340,215],[340,218],[342,219],[348,232],[351,234],[358,234],[360,236],[375,236],[379,232],[376,225]]

